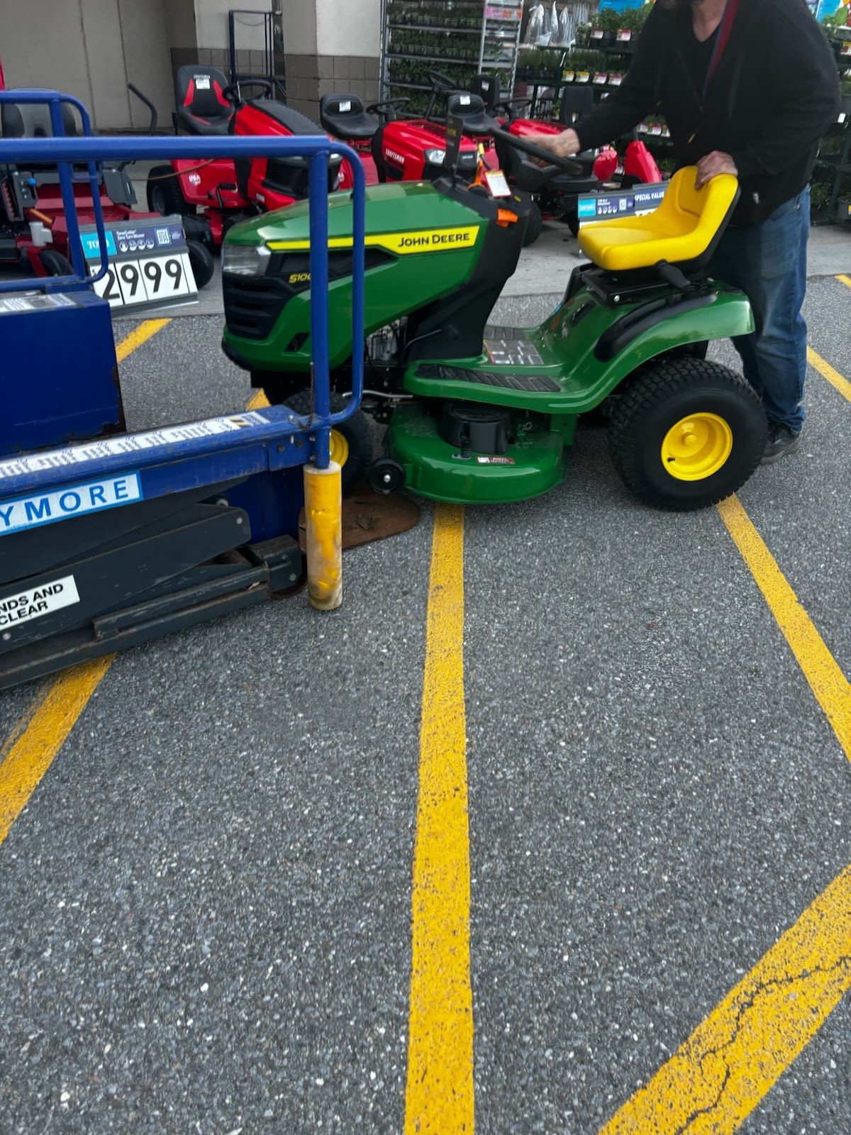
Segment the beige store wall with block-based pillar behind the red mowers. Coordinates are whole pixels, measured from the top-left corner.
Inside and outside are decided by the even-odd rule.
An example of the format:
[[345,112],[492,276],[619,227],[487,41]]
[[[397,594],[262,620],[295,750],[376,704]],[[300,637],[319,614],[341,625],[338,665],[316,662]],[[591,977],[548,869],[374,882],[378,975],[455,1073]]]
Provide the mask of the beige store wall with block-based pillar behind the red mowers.
[[[78,98],[95,129],[144,129],[146,108],[160,127],[174,110],[174,77],[184,64],[226,74],[228,11],[234,0],[0,0],[0,59],[9,86],[53,86]],[[380,0],[246,0],[275,12],[276,73],[286,75],[290,106],[315,119],[322,94],[379,96]],[[263,74],[263,30],[256,16],[237,25],[237,69]]]

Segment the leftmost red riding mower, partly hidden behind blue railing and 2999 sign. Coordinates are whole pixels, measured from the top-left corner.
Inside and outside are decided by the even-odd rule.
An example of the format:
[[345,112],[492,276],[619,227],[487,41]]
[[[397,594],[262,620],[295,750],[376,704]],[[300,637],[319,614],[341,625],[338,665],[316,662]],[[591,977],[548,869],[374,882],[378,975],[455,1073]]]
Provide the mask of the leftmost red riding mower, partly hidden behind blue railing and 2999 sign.
[[[65,134],[75,137],[79,131],[68,103],[61,103],[61,115]],[[5,137],[48,137],[53,133],[47,103],[3,103],[0,126]],[[152,216],[134,212],[136,194],[124,163],[102,168],[98,184],[104,222],[137,221]],[[94,225],[87,171],[85,180],[74,186],[74,200],[79,224]],[[187,239],[186,245],[195,283],[201,288],[212,278],[212,258],[196,239]],[[28,276],[74,274],[59,174],[54,167],[0,168],[0,263],[16,271],[23,269]]]

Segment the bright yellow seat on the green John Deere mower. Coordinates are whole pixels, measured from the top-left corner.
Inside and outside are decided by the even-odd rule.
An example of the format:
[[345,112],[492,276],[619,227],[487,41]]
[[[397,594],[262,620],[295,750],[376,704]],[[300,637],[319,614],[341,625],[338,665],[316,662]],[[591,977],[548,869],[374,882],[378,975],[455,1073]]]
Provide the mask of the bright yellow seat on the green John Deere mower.
[[681,269],[709,260],[739,200],[739,182],[718,174],[694,188],[697,166],[685,166],[668,183],[662,204],[644,217],[595,221],[579,230],[580,247],[608,272],[652,268],[660,260]]

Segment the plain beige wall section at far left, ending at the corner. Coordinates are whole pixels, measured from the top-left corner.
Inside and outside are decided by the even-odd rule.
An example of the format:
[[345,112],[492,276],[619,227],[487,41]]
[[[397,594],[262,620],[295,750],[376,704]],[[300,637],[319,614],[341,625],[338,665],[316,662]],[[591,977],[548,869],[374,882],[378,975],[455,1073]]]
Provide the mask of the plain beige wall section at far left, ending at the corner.
[[174,100],[167,0],[0,0],[0,58],[8,86],[45,86],[75,95],[96,129],[144,128],[149,112],[127,91],[135,83],[160,120]]

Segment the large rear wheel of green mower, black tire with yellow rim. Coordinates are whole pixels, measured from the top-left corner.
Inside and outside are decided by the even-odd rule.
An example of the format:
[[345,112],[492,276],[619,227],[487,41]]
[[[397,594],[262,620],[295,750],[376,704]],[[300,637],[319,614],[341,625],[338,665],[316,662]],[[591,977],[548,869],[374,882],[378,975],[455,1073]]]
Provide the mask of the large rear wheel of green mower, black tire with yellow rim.
[[760,462],[766,419],[752,387],[705,359],[642,370],[615,400],[609,451],[624,485],[657,508],[690,511],[735,493]]

